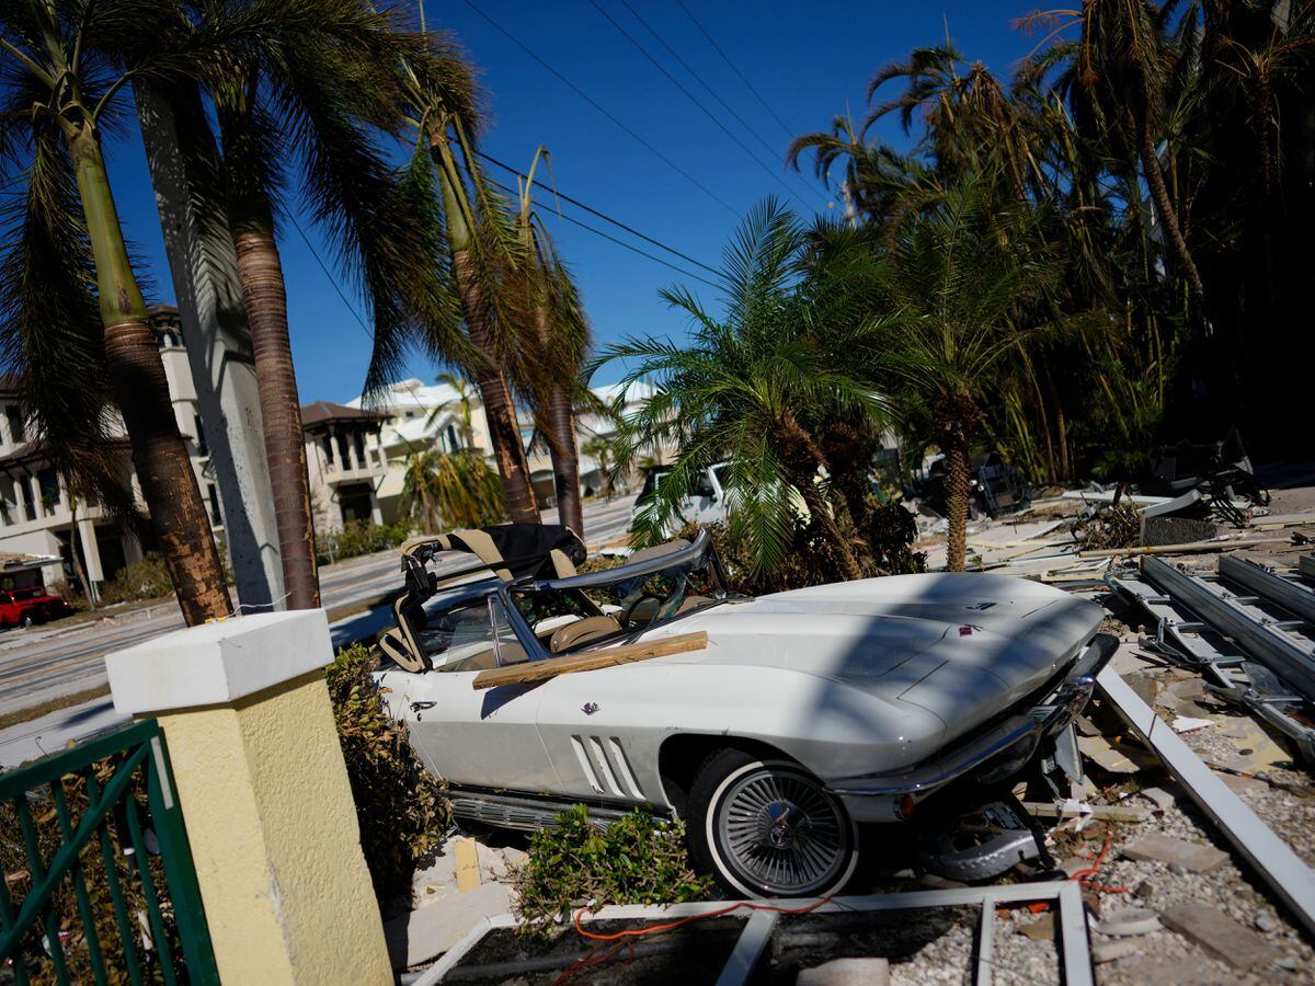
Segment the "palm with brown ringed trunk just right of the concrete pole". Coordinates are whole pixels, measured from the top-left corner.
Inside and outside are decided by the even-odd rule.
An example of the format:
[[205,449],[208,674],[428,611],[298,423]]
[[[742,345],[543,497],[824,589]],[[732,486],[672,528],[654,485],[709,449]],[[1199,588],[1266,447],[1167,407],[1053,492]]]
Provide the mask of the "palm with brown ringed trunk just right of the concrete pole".
[[[193,26],[222,29],[239,21],[246,8],[237,0],[206,0],[197,5]],[[220,71],[208,75],[291,609],[318,606],[320,582],[276,239],[276,217],[289,212],[281,201],[284,172],[296,167],[302,174],[310,214],[337,241],[372,310],[367,392],[397,364],[401,338],[417,313],[431,350],[444,356],[455,350],[455,318],[442,312],[442,292],[433,287],[430,231],[376,138],[380,129],[401,125],[394,63],[429,57],[422,38],[396,28],[392,17],[358,0],[277,7]],[[456,88],[469,85],[460,67],[442,78]]]

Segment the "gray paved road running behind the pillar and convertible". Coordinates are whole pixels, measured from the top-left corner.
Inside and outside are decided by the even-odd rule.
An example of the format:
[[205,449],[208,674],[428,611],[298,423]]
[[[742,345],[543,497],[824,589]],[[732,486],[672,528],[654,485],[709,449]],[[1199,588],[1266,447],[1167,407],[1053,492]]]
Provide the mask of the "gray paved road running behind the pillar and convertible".
[[[621,497],[585,507],[585,534],[590,547],[613,540],[629,528],[633,502],[634,497]],[[552,523],[555,511],[544,511],[543,519]],[[320,588],[329,610],[373,602],[401,588],[397,552],[380,552],[326,567],[321,571]],[[334,644],[373,636],[385,622],[387,609],[383,606],[338,621],[334,623]],[[0,714],[104,685],[101,659],[105,653],[181,626],[178,606],[168,602],[66,628],[34,627],[0,634]]]

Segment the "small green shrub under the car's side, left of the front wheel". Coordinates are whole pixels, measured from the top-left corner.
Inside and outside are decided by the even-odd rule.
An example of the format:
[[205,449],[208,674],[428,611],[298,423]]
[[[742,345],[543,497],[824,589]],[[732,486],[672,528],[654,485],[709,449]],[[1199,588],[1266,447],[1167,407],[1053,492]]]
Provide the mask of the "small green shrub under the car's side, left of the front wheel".
[[679,903],[707,897],[685,853],[685,823],[631,811],[608,827],[584,805],[558,816],[555,828],[530,836],[530,858],[517,873],[517,911],[531,931],[544,932],[573,907],[609,903]]

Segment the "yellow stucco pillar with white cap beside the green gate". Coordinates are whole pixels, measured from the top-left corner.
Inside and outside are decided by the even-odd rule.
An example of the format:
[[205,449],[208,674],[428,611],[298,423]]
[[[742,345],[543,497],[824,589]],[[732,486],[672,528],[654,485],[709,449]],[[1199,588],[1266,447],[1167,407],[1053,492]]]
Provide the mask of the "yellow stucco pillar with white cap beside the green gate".
[[114,706],[164,731],[220,977],[392,983],[329,692],[323,610],[108,655]]

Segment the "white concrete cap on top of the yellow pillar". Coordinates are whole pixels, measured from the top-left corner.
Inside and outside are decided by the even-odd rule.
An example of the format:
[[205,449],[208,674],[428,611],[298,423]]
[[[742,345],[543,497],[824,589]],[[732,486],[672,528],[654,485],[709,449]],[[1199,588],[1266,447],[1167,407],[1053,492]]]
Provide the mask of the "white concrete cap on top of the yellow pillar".
[[114,709],[129,715],[222,705],[333,660],[323,610],[258,613],[176,630],[105,655]]

